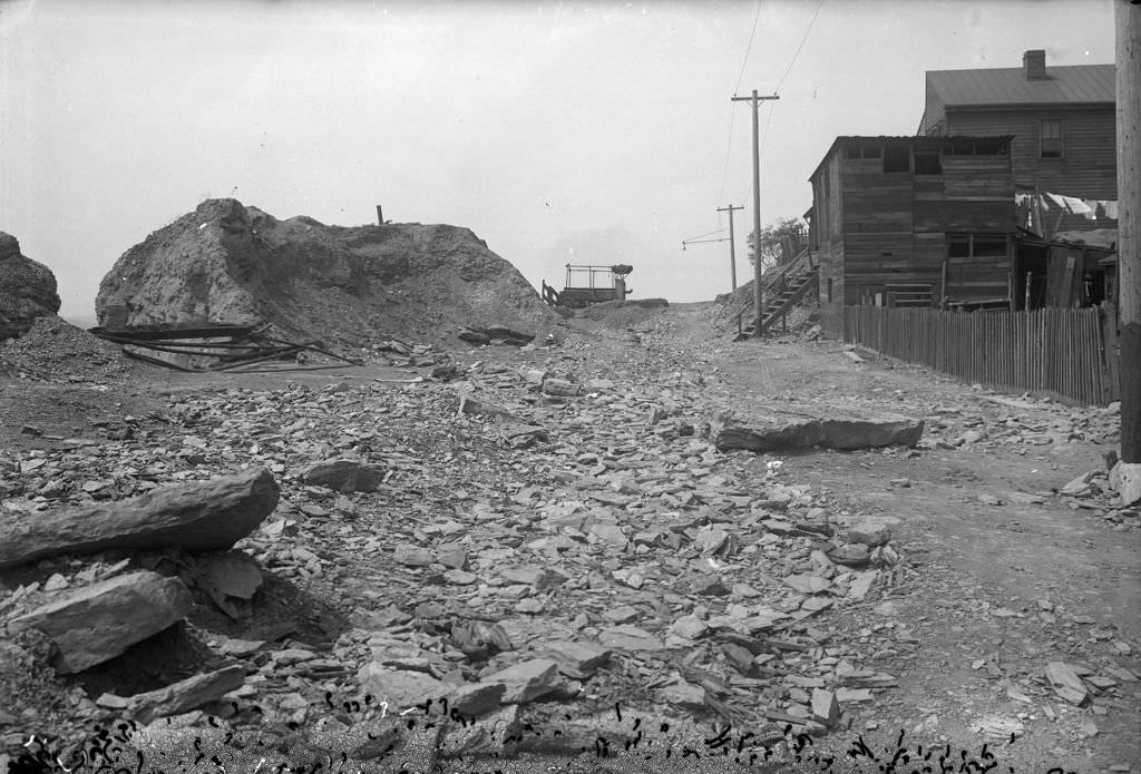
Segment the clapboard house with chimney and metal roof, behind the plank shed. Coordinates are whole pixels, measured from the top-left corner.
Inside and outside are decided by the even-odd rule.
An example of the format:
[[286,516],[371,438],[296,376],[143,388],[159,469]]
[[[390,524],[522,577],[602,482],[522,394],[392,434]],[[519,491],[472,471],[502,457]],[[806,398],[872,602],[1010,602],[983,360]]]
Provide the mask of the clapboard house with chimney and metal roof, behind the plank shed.
[[[1018,190],[1116,201],[1115,74],[1111,64],[1046,67],[1044,50],[1026,51],[1021,67],[929,71],[917,133],[1010,135]],[[1062,212],[1049,230],[1116,228],[1104,213]]]

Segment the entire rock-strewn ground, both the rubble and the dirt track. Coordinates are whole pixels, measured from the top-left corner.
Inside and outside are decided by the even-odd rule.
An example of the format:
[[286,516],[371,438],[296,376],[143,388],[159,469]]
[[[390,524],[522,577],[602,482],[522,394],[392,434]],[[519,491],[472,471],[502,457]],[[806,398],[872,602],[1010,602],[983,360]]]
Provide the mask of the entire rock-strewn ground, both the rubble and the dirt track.
[[[431,755],[489,771],[636,740],[622,760],[640,771],[723,760],[726,740],[806,771],[828,755],[877,771],[904,748],[956,771],[1141,766],[1141,518],[1114,507],[1115,410],[795,331],[733,344],[715,312],[626,310],[570,320],[556,347],[319,373],[116,373],[0,348],[0,529],[262,469],[280,488],[248,503],[268,515],[232,551],[82,553],[62,531],[71,554],[0,571],[9,759],[38,733],[67,760],[127,718],[115,733],[145,765],[179,749],[211,771]],[[719,443],[774,406],[923,433]],[[40,633],[80,603],[133,618]],[[442,720],[445,696],[479,720]]]

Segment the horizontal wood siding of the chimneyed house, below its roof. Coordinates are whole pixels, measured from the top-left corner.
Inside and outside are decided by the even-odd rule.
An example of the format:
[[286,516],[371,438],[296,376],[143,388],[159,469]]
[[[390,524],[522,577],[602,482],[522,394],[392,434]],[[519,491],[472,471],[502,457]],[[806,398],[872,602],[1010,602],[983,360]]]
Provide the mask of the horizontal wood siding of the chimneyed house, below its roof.
[[[1047,119],[1062,122],[1061,158],[1041,157],[1039,130],[1042,121]],[[1011,165],[1014,182],[1020,186],[1079,198],[1117,198],[1117,129],[1112,105],[987,111],[948,108],[946,120],[950,135],[1013,135]],[[1055,218],[1051,218],[1051,227]],[[1116,222],[1067,215],[1060,228],[1115,228]]]

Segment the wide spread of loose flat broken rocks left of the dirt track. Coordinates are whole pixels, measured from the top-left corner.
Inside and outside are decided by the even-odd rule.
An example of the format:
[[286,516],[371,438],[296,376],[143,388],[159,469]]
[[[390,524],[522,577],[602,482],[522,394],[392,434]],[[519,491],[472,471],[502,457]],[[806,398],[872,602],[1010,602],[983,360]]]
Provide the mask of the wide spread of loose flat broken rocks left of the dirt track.
[[[874,728],[872,712],[899,682],[884,659],[920,642],[900,604],[922,579],[922,551],[896,539],[891,518],[850,512],[788,480],[778,457],[721,442],[727,412],[764,415],[742,407],[706,353],[671,341],[669,323],[634,333],[638,344],[589,332],[494,359],[438,352],[435,377],[172,393],[164,410],[124,417],[131,432],[118,440],[0,453],[3,530],[111,506],[131,513],[168,483],[218,505],[210,482],[243,469],[272,476],[275,491],[273,505],[258,498],[234,513],[241,536],[224,545],[132,545],[124,528],[123,543],[96,553],[79,555],[83,538],[14,554],[22,575],[7,581],[0,617],[59,646],[55,611],[108,585],[165,584],[164,617],[147,625],[143,604],[116,614],[143,637],[173,637],[173,626],[193,645],[183,674],[123,694],[67,689],[78,692],[68,717],[132,717],[140,744],[203,733],[212,717],[285,748],[348,740],[351,757],[375,760],[413,743],[387,714],[428,699],[485,730],[566,726],[567,707],[602,718],[615,702],[679,727],[731,723],[759,740],[786,727],[817,738]],[[1035,414],[997,438],[965,407],[892,418],[898,446],[877,454],[1018,449],[1043,427],[1063,433],[1063,421]],[[1100,417],[1075,412],[1067,439],[1109,433],[1110,415]],[[1060,496],[1077,502],[1101,480],[1083,476]],[[963,604],[945,614],[965,614]],[[90,620],[100,636],[111,628]],[[95,677],[130,645],[67,661],[63,644],[71,666],[60,674]],[[1039,683],[1006,690],[1049,687],[1089,707],[1134,678],[1042,668]],[[0,716],[0,732],[15,743],[38,719]],[[590,739],[597,725],[570,724],[582,735],[568,738]],[[455,726],[431,744],[504,750],[502,735]]]

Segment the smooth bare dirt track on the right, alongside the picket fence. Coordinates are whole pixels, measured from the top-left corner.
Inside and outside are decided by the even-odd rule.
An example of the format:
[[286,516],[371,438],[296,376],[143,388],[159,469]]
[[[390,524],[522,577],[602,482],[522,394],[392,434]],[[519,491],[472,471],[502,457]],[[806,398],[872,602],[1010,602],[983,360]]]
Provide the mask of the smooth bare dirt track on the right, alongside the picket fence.
[[[675,311],[679,331],[699,335],[701,307]],[[795,397],[841,410],[930,416],[949,425],[944,437],[968,429],[980,435],[917,454],[815,450],[782,457],[791,481],[826,487],[839,507],[899,520],[895,535],[914,572],[895,589],[890,612],[881,617],[884,628],[850,633],[881,642],[885,670],[900,677],[900,690],[866,716],[879,728],[953,741],[977,738],[971,726],[986,718],[1018,719],[1026,735],[1000,756],[1004,765],[1009,757],[1011,765],[1043,771],[1118,764],[1136,771],[1135,678],[1115,678],[1083,709],[1060,702],[1043,678],[1050,661],[1095,671],[1108,666],[1128,670],[1126,676],[1138,671],[1136,519],[1128,527],[1115,523],[1054,494],[1104,466],[1103,454],[1117,446],[1114,415],[1018,396],[1005,399],[1026,408],[994,402],[987,398],[1002,397],[867,352],[856,364],[843,349],[836,342],[743,342],[721,348],[713,361],[746,410],[750,402]],[[1012,426],[1066,426],[1099,414],[1110,422],[1084,439],[1042,443],[1033,431],[1010,434]],[[900,638],[900,630],[908,634]]]

